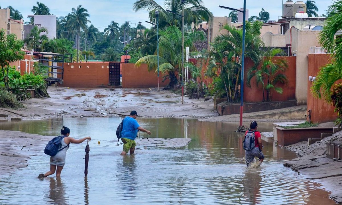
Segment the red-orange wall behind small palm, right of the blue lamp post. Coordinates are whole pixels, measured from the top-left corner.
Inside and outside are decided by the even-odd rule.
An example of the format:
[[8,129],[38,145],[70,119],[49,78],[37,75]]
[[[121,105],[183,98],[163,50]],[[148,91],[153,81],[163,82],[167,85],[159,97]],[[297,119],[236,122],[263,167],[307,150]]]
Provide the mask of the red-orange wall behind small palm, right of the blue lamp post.
[[[295,90],[296,90],[296,57],[295,56],[284,56],[284,57],[275,57],[277,58],[285,58],[288,61],[288,69],[285,71],[285,75],[289,79],[288,86],[280,85],[284,89],[282,94],[278,94],[275,91],[272,91],[272,101],[285,101],[285,100],[294,100],[295,98]],[[247,86],[247,73],[250,68],[253,67],[253,61],[246,59],[245,66],[245,88],[244,88],[244,101],[245,102],[262,102],[262,88],[256,87],[255,78],[251,80],[251,87]],[[265,80],[267,83],[267,80]],[[265,99],[266,99],[265,92]]]

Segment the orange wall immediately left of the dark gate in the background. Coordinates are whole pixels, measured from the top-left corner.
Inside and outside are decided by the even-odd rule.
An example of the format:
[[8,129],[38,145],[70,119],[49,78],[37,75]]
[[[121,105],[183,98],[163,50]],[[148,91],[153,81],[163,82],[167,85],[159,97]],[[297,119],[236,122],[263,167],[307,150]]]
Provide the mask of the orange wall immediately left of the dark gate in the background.
[[109,83],[109,63],[64,63],[63,81],[63,86],[66,87],[107,85]]

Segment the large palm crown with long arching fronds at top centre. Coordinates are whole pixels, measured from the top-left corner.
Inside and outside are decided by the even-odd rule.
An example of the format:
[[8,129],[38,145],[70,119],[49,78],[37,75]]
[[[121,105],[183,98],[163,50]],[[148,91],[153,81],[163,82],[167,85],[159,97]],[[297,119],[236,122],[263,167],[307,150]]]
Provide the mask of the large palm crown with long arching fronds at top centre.
[[[164,0],[164,9],[161,5],[154,0],[137,0],[133,4],[134,11],[146,10],[149,12],[150,22],[156,22],[155,11],[159,11],[159,27],[165,28],[166,26],[176,25],[181,27],[182,18],[172,12],[182,14],[181,0]],[[213,18],[212,13],[203,6],[202,0],[184,0],[184,24],[191,25],[192,23],[198,23],[200,19],[211,21]]]

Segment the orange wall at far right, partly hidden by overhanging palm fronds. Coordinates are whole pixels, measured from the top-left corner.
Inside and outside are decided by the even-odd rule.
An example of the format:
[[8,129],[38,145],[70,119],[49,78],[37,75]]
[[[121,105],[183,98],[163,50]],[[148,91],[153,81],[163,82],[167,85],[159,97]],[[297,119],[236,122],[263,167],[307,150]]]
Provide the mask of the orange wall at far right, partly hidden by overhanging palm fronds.
[[[329,54],[309,54],[308,76],[317,76],[319,68],[330,63]],[[312,86],[311,81],[307,81],[307,109],[311,110],[311,121],[315,123],[323,123],[334,121],[337,114],[334,107],[323,99],[314,98],[310,92]]]

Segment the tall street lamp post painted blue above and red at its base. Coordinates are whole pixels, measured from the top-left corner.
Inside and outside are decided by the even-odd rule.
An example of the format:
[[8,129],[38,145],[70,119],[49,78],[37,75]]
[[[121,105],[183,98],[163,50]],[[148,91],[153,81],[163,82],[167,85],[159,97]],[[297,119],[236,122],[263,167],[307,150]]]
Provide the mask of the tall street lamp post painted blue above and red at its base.
[[245,69],[245,36],[246,36],[246,0],[244,0],[244,11],[229,8],[226,6],[219,6],[223,9],[229,9],[232,11],[242,12],[244,14],[243,26],[242,26],[242,64],[241,64],[241,91],[240,91],[240,126],[242,126],[242,112],[244,107],[244,69]]

